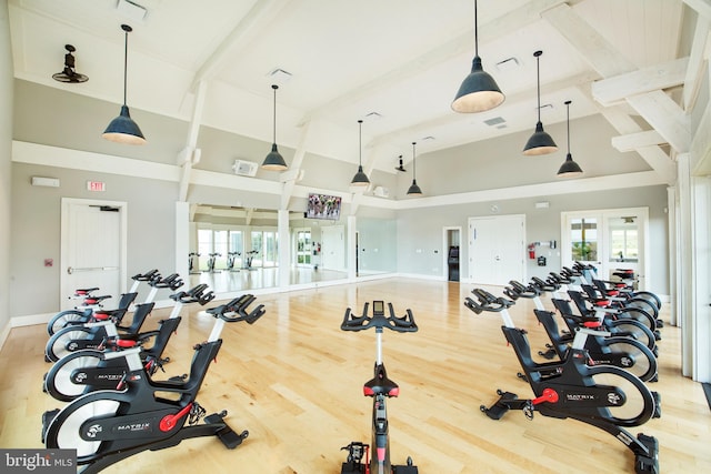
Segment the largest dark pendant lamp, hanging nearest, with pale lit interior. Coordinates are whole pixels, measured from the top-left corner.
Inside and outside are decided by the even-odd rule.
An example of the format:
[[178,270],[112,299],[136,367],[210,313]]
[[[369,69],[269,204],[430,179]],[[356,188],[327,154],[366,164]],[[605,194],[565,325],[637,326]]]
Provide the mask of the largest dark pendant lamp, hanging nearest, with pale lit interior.
[[500,105],[505,99],[499,85],[497,85],[497,81],[484,72],[481,67],[477,22],[477,0],[474,0],[474,59],[471,64],[471,72],[464,78],[452,102],[454,112],[483,112]]

